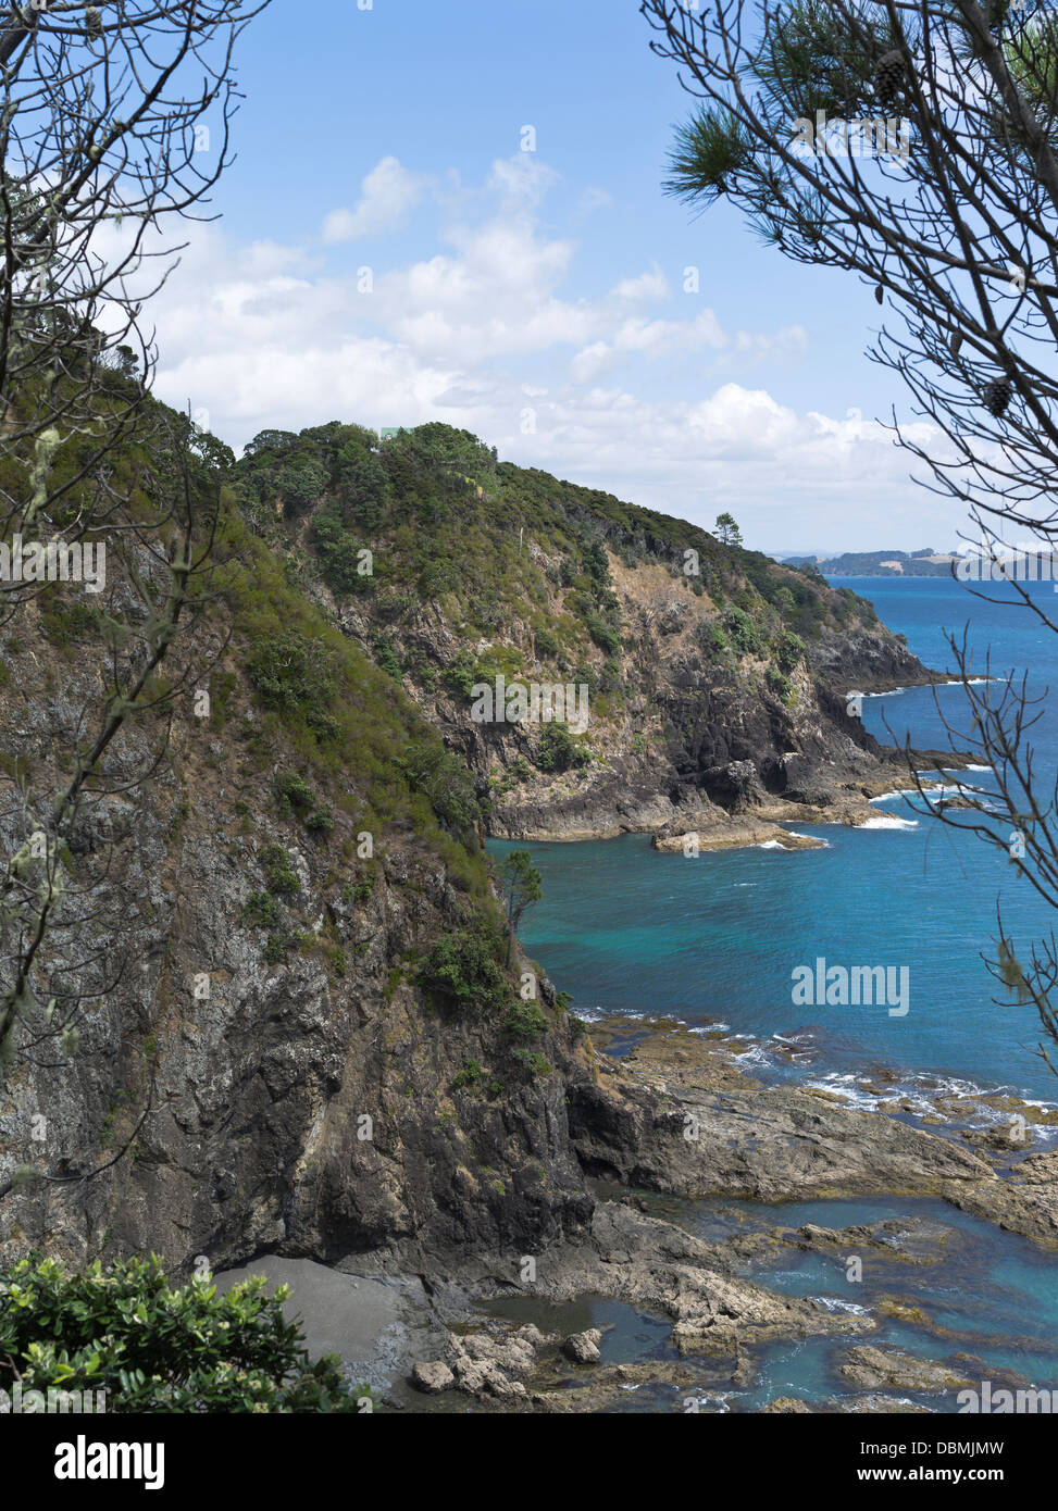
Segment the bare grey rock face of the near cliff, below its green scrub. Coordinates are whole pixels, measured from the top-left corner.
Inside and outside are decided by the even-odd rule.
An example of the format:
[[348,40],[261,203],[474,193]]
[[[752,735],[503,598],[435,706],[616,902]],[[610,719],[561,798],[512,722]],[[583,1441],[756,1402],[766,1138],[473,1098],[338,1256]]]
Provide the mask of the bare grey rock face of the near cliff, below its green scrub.
[[[67,660],[54,694],[14,718],[6,700],[8,751],[51,759],[89,677]],[[252,728],[248,695],[243,710]],[[80,846],[79,878],[116,898],[133,955],[86,1011],[77,1053],[11,1079],[0,1185],[23,1163],[76,1176],[131,1147],[85,1185],[6,1197],[0,1262],[35,1247],[74,1265],[154,1251],[186,1274],[198,1256],[224,1269],[263,1251],[385,1265],[398,1247],[413,1262],[482,1248],[514,1272],[589,1222],[550,984],[531,1070],[497,1012],[449,1009],[419,985],[420,961],[467,917],[467,882],[437,846],[408,825],[367,870],[340,787],[334,834],[317,843],[269,784],[242,740],[206,743],[184,724],[142,799],[124,802],[119,875],[91,836]],[[271,898],[269,845],[295,888],[272,899],[295,941],[274,961],[246,913]]]

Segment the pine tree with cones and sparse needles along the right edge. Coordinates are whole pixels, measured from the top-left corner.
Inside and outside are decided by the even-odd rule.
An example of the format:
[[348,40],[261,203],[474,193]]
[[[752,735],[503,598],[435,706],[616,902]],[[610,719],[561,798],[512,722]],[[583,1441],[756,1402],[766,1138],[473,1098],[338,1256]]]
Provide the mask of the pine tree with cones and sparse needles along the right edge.
[[[668,190],[695,205],[725,198],[786,257],[874,289],[886,325],[868,355],[899,376],[916,422],[893,417],[898,444],[925,487],[967,511],[1001,600],[1058,633],[1004,571],[999,535],[1058,536],[1058,18],[1041,0],[641,11],[651,48],[698,100]],[[1058,908],[1055,793],[1035,790],[1026,681],[979,684],[966,636],[949,644],[967,700],[952,743],[996,775],[995,790],[961,789],[958,817],[933,811],[969,822]],[[1053,937],[1019,964],[1001,916],[993,972],[1058,1041]]]

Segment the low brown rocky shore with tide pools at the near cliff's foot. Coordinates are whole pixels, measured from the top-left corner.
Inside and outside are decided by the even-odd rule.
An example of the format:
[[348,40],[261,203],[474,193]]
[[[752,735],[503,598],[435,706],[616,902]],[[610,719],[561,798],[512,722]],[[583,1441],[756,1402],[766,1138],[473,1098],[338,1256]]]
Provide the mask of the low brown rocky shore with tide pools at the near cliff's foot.
[[[939,1098],[943,1117],[911,1115],[895,1092],[877,1111],[862,1111],[818,1086],[765,1085],[741,1064],[753,1044],[719,1029],[611,1018],[591,1034],[570,1088],[570,1133],[596,1197],[591,1221],[574,1239],[529,1256],[529,1280],[496,1256],[452,1254],[447,1265],[434,1263],[411,1346],[399,1367],[391,1360],[390,1405],[594,1413],[645,1389],[671,1398],[665,1410],[738,1410],[762,1348],[846,1339],[831,1401],[778,1396],[754,1410],[952,1410],[952,1392],[979,1378],[981,1361],[952,1349],[957,1336],[931,1325],[898,1287],[901,1272],[942,1265],[960,1242],[957,1230],[914,1213],[845,1228],[786,1227],[766,1209],[933,1197],[1020,1233],[1041,1251],[1058,1250],[1058,1151],[1032,1153],[1035,1133],[1058,1118],[1055,1109],[985,1098],[991,1121],[981,1130],[970,1124],[982,1106],[969,1095]],[[862,1077],[884,1089],[880,1079],[886,1074]],[[762,1218],[742,1206],[733,1231],[706,1239],[680,1216],[682,1204],[698,1198],[759,1203]],[[893,1293],[862,1307],[827,1295],[790,1296],[747,1274],[784,1253],[868,1256],[895,1277]],[[401,1256],[390,1256],[387,1269],[393,1284]],[[407,1284],[407,1269],[401,1281]],[[608,1361],[599,1328],[550,1325],[576,1318],[583,1298],[664,1319],[673,1357]],[[937,1357],[872,1342],[887,1318],[930,1333]],[[1019,1381],[1011,1375],[1011,1383]]]

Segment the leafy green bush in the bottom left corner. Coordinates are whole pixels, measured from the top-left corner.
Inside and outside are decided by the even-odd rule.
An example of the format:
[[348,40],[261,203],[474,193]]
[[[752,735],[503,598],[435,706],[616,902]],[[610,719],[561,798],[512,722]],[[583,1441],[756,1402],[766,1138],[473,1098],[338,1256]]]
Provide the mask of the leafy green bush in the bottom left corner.
[[301,1328],[284,1321],[289,1290],[264,1277],[224,1296],[213,1284],[172,1286],[157,1257],[89,1265],[67,1275],[50,1259],[0,1274],[0,1386],[106,1392],[106,1411],[357,1411],[340,1360],[311,1363]]

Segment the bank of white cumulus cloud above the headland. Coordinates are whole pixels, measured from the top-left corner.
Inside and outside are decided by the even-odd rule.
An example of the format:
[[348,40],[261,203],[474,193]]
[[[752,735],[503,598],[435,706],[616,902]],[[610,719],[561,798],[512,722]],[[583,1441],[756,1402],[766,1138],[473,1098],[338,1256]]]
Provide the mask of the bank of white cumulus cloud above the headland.
[[[413,202],[411,177],[384,159],[349,215],[366,225],[373,204],[381,224],[382,202]],[[803,328],[727,331],[701,307],[673,317],[660,269],[571,296],[577,243],[537,216],[547,178],[531,154],[493,165],[481,190],[455,195],[455,224],[438,209],[426,255],[388,269],[203,227],[150,307],[159,394],[204,409],[234,446],[331,419],[447,420],[505,458],[706,526],[735,509],[750,539],[777,550],[833,538],[851,500],[895,529],[908,511],[916,538],[952,533],[880,425],[801,413],[742,381],[763,360],[800,360]],[[674,402],[664,358],[688,355],[694,385]]]

